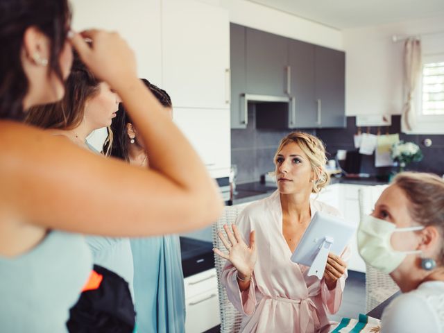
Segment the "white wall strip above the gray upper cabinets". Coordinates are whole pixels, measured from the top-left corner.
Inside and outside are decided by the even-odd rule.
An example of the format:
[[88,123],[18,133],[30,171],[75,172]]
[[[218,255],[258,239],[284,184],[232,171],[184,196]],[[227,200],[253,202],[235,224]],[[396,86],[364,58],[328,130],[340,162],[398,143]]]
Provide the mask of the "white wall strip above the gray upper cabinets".
[[230,22],[275,33],[295,40],[343,50],[342,33],[280,10],[245,0],[202,0],[219,3],[230,12]]

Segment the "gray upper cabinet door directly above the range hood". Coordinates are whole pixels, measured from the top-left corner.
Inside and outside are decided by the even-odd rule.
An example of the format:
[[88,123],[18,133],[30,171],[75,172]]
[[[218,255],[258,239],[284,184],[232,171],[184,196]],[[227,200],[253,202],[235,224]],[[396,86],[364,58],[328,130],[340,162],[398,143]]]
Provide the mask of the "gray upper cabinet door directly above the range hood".
[[287,38],[246,28],[247,93],[286,96]]

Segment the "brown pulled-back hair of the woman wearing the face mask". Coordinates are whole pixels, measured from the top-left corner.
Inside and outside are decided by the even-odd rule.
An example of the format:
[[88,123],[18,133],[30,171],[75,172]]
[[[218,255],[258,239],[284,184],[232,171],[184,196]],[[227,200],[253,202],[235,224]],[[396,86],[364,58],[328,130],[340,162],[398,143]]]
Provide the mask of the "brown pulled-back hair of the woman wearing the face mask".
[[[433,173],[402,172],[393,179],[409,199],[412,219],[425,227],[434,225],[444,238],[444,180]],[[439,258],[444,263],[444,242]]]

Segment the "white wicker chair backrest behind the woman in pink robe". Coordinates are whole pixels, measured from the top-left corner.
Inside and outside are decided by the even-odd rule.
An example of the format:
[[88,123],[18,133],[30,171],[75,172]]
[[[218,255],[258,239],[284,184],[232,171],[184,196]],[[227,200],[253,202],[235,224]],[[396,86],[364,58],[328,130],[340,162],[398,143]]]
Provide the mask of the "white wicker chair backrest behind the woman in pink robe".
[[[219,239],[218,232],[223,231],[224,224],[234,224],[239,213],[244,210],[246,205],[226,206],[223,214],[216,223],[212,226],[213,246],[219,248],[223,253],[228,253],[223,246],[221,239]],[[221,333],[237,333],[241,327],[242,316],[233,307],[230,300],[228,300],[225,287],[221,284],[221,273],[225,266],[226,260],[219,255],[214,254],[214,266],[217,271],[217,287],[219,289],[219,312],[221,316]]]

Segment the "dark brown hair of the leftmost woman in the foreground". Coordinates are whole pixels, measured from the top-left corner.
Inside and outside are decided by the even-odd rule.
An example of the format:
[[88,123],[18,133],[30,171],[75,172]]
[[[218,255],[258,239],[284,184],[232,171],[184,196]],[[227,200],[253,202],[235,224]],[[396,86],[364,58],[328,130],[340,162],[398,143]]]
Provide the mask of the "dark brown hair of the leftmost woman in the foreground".
[[22,65],[26,29],[35,26],[49,38],[48,71],[53,71],[63,81],[59,57],[70,23],[67,0],[1,0],[0,119],[24,118],[23,99],[29,88]]

